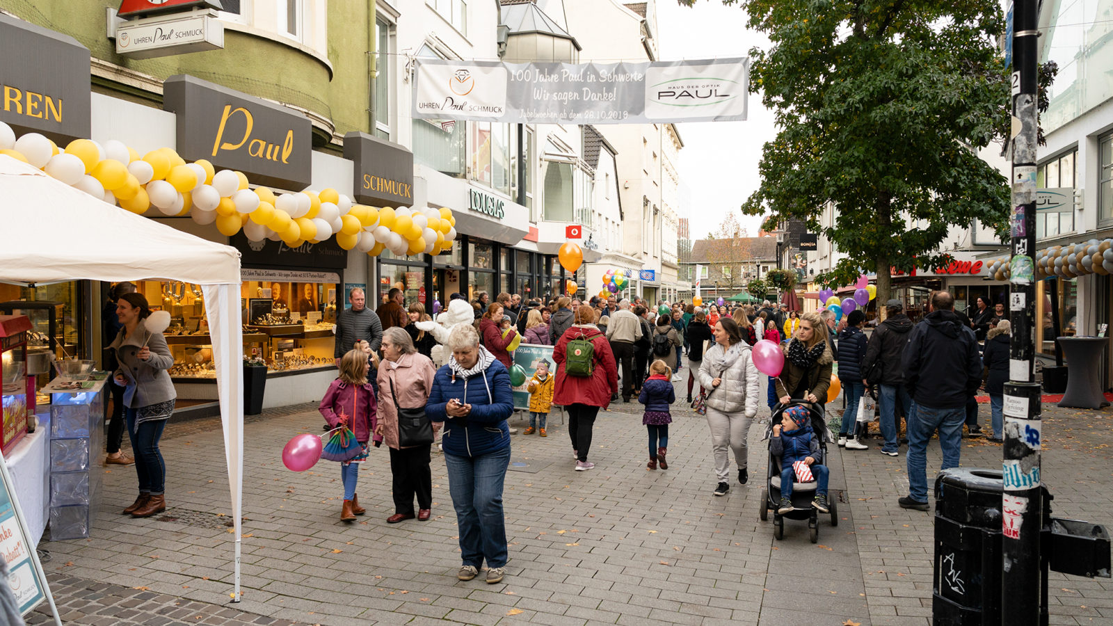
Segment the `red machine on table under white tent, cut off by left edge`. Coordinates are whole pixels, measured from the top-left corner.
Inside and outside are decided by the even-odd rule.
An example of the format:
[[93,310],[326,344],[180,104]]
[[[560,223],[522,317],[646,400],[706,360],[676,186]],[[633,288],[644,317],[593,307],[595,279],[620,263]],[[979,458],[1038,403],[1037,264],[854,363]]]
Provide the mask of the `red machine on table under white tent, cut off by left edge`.
[[35,415],[35,376],[27,375],[27,315],[0,315],[0,352],[3,358],[3,440],[7,454],[24,434]]

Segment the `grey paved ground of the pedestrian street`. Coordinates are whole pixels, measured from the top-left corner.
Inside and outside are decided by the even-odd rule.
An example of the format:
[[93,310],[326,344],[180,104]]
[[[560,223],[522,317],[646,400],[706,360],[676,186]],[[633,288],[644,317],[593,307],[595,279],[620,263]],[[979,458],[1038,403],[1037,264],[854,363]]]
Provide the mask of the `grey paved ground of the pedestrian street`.
[[[165,515],[120,516],[135,498],[134,470],[102,469],[92,537],[43,541],[51,555],[43,566],[67,624],[930,624],[933,513],[896,506],[907,490],[904,447],[899,458],[876,444],[833,449],[839,526],[821,520],[810,544],[807,525],[787,520],[777,541],[771,522],[758,519],[765,423],[750,432],[751,480],[716,498],[703,419],[678,402],[670,467],[647,471],[638,407],[619,402],[600,413],[593,471],[573,471],[559,413],[548,438],[513,436],[504,495],[511,559],[498,585],[455,578],[455,516],[440,454],[427,522],[385,522],[394,511],[383,449],[359,472],[367,516],[351,525],[338,519],[336,463],[286,470],[286,440],[321,432],[312,404],[247,418],[243,601],[226,604],[234,546],[214,419],[168,426]],[[1043,476],[1055,515],[1113,527],[1113,411],[1044,411]],[[963,464],[999,468],[999,453],[973,440]],[[938,463],[933,443],[928,471]],[[1113,620],[1106,579],[1053,574],[1050,587],[1052,624]],[[48,622],[40,607],[30,623]]]

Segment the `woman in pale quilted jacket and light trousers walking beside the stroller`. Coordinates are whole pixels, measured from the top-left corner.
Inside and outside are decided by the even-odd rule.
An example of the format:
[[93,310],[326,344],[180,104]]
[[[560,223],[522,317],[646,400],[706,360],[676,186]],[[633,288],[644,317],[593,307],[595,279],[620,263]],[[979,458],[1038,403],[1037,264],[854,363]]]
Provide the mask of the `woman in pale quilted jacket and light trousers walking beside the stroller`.
[[719,317],[715,324],[715,345],[703,354],[699,368],[699,383],[709,389],[707,395],[707,423],[711,427],[711,452],[719,485],[716,496],[730,491],[727,482],[730,459],[727,448],[735,452],[738,463],[738,482],[746,485],[748,448],[746,438],[750,423],[758,412],[760,374],[754,365],[750,345],[742,341],[738,323],[730,317]]

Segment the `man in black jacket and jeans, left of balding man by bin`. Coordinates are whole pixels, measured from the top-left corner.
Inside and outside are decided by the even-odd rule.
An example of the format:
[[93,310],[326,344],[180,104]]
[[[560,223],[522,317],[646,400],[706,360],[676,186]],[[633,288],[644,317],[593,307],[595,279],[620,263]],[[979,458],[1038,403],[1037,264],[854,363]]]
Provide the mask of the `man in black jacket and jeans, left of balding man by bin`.
[[899,300],[885,303],[885,321],[878,324],[866,346],[866,359],[861,362],[866,384],[877,389],[877,403],[881,412],[881,453],[897,456],[896,403],[900,402],[902,413],[907,418],[912,410],[912,397],[904,385],[904,370],[900,359],[913,329],[912,320],[904,313]]

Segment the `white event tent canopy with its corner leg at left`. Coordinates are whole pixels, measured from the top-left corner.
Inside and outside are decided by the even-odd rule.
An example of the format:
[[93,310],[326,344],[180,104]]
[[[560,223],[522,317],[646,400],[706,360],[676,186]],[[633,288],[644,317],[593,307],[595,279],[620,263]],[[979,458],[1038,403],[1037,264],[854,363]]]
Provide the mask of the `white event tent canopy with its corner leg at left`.
[[0,246],[3,283],[162,278],[201,286],[232,490],[238,601],[244,489],[239,252],[111,206],[4,155],[0,155],[0,224],[6,234]]

